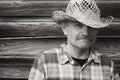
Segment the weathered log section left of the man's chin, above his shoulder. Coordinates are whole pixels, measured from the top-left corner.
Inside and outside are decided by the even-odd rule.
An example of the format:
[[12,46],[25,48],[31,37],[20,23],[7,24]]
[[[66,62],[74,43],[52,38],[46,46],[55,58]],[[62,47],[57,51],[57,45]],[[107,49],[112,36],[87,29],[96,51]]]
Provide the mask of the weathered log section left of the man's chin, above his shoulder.
[[0,40],[0,56],[5,58],[34,58],[44,50],[58,47],[64,39]]

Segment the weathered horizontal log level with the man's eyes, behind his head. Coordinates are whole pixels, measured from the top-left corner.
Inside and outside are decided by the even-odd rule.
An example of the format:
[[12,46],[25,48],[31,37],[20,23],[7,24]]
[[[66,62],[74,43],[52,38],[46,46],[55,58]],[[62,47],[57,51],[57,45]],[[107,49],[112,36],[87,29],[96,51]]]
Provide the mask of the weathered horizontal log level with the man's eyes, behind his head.
[[[108,28],[101,29],[99,36],[120,37],[120,19],[115,18]],[[1,17],[0,37],[63,37],[63,32],[51,18]]]

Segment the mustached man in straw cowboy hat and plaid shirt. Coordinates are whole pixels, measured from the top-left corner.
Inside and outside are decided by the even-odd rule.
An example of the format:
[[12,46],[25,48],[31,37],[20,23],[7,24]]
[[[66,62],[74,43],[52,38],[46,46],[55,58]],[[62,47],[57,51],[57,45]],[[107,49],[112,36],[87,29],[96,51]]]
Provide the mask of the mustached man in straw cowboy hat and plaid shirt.
[[120,80],[114,62],[92,49],[99,28],[112,17],[100,18],[94,0],[70,0],[67,9],[54,11],[67,44],[45,51],[33,64],[29,80]]

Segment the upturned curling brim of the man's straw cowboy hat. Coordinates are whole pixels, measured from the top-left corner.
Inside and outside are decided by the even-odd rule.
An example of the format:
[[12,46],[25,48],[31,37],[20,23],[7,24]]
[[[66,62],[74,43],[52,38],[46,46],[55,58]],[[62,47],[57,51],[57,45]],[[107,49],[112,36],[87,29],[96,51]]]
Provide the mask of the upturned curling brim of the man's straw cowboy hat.
[[60,24],[64,21],[78,21],[92,28],[104,28],[107,27],[113,20],[112,16],[101,18],[100,21],[88,20],[88,19],[75,19],[74,17],[65,14],[63,11],[54,11],[52,14],[53,20]]

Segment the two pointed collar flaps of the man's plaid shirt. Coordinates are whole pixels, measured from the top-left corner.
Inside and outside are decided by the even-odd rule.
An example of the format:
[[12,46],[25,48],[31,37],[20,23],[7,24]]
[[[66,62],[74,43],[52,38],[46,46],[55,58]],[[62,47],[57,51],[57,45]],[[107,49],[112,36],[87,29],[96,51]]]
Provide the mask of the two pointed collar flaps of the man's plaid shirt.
[[[61,47],[60,54],[60,64],[66,64],[69,62],[70,64],[75,64],[75,61],[72,59],[68,51],[65,49],[65,45]],[[100,55],[95,52],[93,49],[90,50],[90,55],[88,58],[88,62],[94,61],[95,63],[100,63]]]

